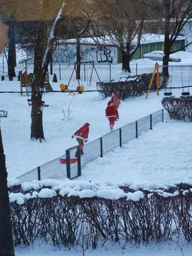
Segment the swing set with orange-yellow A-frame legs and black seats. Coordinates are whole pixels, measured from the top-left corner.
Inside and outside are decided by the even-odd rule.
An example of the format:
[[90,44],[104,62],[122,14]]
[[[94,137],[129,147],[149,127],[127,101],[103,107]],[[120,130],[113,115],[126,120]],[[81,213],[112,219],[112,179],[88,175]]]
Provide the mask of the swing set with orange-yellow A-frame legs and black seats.
[[[181,75],[181,81],[182,81],[182,93],[181,95],[182,96],[189,96],[190,95],[190,92],[189,92],[189,86],[190,86],[190,82],[191,82],[191,72],[192,72],[192,66],[190,66],[189,68],[189,80],[188,80],[188,91],[185,92],[184,91],[184,82],[183,82],[183,75],[182,75],[182,67],[180,67],[180,75]],[[150,92],[150,88],[152,86],[152,82],[154,81],[154,77],[155,75],[157,74],[157,95],[159,95],[159,64],[156,63],[155,65],[155,68],[154,68],[154,72],[152,74],[152,77],[150,79],[150,83],[148,85],[148,89],[147,89],[147,93],[146,93],[146,96],[145,96],[145,99],[147,99],[148,97],[148,93]],[[173,77],[173,66],[172,66],[172,72],[171,72],[171,76],[169,76],[169,80],[168,80],[168,83],[166,84],[166,86],[168,84],[170,84],[170,90],[166,90],[166,88],[164,89],[164,96],[172,96],[172,77]]]

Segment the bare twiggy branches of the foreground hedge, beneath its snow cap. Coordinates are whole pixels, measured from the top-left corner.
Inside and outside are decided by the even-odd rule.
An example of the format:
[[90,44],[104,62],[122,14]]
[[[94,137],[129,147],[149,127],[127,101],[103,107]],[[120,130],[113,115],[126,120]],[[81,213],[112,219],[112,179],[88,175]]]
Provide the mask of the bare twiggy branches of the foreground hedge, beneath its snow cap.
[[94,249],[107,239],[148,244],[183,234],[191,242],[192,189],[181,188],[188,189],[143,190],[138,201],[61,196],[56,191],[51,198],[30,198],[21,205],[12,202],[13,241],[28,245],[42,237],[54,245],[70,248],[84,243]]

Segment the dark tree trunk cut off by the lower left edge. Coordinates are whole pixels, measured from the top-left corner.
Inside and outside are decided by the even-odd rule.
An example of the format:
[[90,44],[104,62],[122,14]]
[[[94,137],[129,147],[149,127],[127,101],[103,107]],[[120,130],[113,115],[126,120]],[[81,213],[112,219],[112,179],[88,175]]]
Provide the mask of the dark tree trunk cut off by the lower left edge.
[[10,216],[10,200],[7,186],[7,172],[0,127],[0,254],[1,256],[15,256],[12,221]]

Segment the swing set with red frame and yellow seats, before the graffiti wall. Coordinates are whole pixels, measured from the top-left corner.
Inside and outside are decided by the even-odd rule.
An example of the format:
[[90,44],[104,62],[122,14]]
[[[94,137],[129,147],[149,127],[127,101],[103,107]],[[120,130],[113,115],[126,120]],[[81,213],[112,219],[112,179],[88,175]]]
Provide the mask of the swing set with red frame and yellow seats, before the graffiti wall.
[[[80,65],[81,65],[81,80],[83,81],[83,77],[84,77],[84,81],[87,81],[87,86],[90,86],[92,84],[93,71],[95,71],[95,73],[100,81],[99,74],[97,73],[97,70],[95,68],[94,61],[83,61],[80,63]],[[89,65],[89,70],[88,70],[88,65]],[[72,76],[74,75],[74,72],[77,74],[77,62],[74,63],[74,68],[72,70],[72,74],[70,76],[68,84],[63,84],[63,83],[60,84],[61,92],[69,92],[69,94],[72,93],[75,95],[75,93],[74,93],[75,90],[68,89],[68,86],[70,84]],[[78,79],[77,79],[77,83],[78,83],[78,86],[76,88],[76,91],[79,93],[83,93],[84,86],[80,85]]]

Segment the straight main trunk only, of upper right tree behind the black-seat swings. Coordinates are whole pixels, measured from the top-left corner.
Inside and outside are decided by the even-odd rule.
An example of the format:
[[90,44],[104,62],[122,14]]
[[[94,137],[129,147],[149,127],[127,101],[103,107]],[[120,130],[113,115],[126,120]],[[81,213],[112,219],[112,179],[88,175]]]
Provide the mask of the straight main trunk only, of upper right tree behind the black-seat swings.
[[164,20],[164,56],[163,56],[163,76],[169,76],[170,59],[170,1],[164,1],[165,20]]

